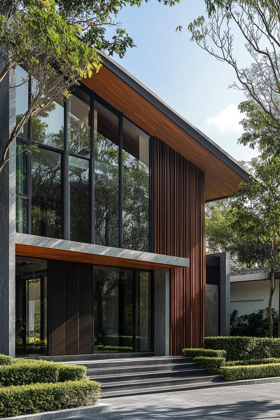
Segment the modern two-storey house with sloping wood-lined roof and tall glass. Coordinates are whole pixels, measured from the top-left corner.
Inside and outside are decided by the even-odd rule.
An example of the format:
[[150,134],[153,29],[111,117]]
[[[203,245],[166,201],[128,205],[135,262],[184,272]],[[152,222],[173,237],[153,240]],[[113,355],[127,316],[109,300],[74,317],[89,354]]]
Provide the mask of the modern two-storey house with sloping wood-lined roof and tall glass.
[[[233,194],[249,173],[102,58],[70,100],[31,118],[10,155],[38,150],[0,174],[0,353],[201,346],[204,202]],[[25,84],[0,94],[3,150],[30,95]]]

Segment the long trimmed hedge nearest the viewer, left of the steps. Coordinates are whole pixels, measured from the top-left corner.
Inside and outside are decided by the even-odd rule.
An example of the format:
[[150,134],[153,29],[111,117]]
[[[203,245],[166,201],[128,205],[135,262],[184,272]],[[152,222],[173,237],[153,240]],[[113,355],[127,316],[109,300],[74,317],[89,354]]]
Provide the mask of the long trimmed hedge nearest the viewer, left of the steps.
[[100,384],[83,379],[63,383],[35,383],[0,388],[0,417],[97,404]]

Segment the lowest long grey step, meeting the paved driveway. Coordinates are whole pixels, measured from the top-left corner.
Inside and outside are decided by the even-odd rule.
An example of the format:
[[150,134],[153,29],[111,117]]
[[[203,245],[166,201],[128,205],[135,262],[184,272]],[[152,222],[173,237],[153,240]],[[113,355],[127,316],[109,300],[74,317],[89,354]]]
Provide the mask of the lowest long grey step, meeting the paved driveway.
[[225,382],[222,381],[222,377],[220,377],[220,375],[217,375],[217,379],[215,379],[215,381],[205,381],[173,386],[155,386],[154,388],[139,388],[126,391],[116,390],[102,392],[102,401],[107,398],[117,398],[121,396],[160,394],[162,392],[188,391],[192,389],[216,388],[219,386],[225,386]]

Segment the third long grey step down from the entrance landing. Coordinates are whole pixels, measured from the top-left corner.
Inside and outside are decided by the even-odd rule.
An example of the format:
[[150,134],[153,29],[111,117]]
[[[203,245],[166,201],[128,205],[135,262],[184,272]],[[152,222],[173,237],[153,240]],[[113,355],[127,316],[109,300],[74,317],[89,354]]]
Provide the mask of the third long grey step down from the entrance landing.
[[92,381],[98,381],[101,383],[109,382],[120,382],[120,381],[147,381],[148,379],[156,378],[173,378],[176,376],[194,376],[194,375],[207,375],[207,369],[198,369],[197,367],[191,367],[189,369],[179,369],[179,370],[161,370],[153,372],[142,372],[142,373],[122,373],[116,375],[98,375],[98,376],[89,376],[89,379]]

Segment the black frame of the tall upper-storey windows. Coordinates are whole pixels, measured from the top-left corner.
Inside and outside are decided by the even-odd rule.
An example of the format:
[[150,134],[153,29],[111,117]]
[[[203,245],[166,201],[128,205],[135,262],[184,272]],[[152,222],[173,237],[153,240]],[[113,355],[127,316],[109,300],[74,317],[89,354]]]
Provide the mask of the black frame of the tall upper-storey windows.
[[[89,108],[89,115],[90,115],[90,156],[85,157],[79,154],[71,153],[68,151],[68,111],[69,111],[69,100],[64,100],[64,147],[63,149],[59,149],[57,147],[51,147],[46,144],[33,142],[32,141],[32,127],[31,127],[31,117],[28,121],[28,138],[24,139],[22,137],[17,137],[16,141],[23,142],[26,144],[26,147],[31,147],[32,145],[36,145],[38,149],[47,149],[53,152],[60,153],[61,158],[61,239],[69,240],[69,227],[68,227],[68,219],[69,219],[69,211],[70,211],[70,203],[69,203],[69,194],[68,194],[68,169],[69,169],[69,156],[78,157],[79,159],[84,159],[89,161],[89,242],[90,244],[95,244],[95,232],[94,232],[94,220],[95,220],[95,199],[94,199],[94,170],[95,170],[95,159],[94,159],[94,102],[95,100],[104,105],[107,109],[112,111],[115,115],[118,116],[118,133],[119,133],[119,203],[118,203],[118,211],[119,211],[119,218],[118,218],[118,228],[119,228],[119,241],[118,247],[123,247],[123,118],[126,118],[128,121],[133,123],[137,128],[141,129],[145,134],[149,136],[149,252],[154,251],[154,238],[153,238],[153,202],[154,202],[154,186],[153,186],[153,153],[154,153],[154,138],[147,133],[147,131],[143,130],[139,127],[136,123],[134,123],[130,118],[123,114],[122,111],[115,108],[109,102],[107,102],[104,98],[100,97],[96,92],[89,89],[83,83],[79,84],[79,87],[75,87],[71,94],[75,95],[75,91],[77,89],[81,89],[89,95],[90,99],[90,108]],[[79,97],[79,95],[78,95]],[[31,103],[31,77],[29,77],[29,95],[28,95],[28,106]],[[26,214],[26,234],[31,235],[31,203],[32,203],[32,186],[31,186],[31,153],[27,153],[27,194],[18,194],[16,192],[16,197],[20,197],[27,200],[27,214]]]

